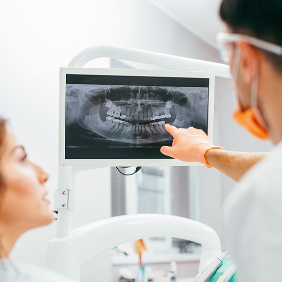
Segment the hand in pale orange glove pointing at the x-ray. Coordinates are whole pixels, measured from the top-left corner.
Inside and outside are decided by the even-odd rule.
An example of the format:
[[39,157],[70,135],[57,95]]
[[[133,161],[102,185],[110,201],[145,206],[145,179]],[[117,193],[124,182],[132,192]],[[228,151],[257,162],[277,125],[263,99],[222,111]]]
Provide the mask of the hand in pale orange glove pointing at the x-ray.
[[202,129],[176,128],[166,124],[165,129],[173,136],[172,147],[162,146],[162,154],[187,162],[200,162],[211,167],[205,154],[210,149],[224,149],[221,146],[214,146]]

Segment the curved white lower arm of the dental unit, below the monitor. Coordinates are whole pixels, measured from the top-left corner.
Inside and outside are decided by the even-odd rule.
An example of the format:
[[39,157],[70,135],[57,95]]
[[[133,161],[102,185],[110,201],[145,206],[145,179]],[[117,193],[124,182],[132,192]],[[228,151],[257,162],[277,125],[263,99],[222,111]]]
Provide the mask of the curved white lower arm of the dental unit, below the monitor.
[[217,233],[205,224],[179,216],[136,214],[93,222],[51,240],[48,267],[79,281],[81,265],[91,258],[131,240],[160,236],[201,244],[199,271],[221,254]]

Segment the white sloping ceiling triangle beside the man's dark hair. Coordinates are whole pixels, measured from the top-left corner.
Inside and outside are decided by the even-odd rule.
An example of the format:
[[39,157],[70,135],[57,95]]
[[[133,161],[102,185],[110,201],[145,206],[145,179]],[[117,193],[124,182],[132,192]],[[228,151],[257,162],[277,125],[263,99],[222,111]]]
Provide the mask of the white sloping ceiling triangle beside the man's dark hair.
[[221,0],[149,0],[180,25],[217,48],[216,34],[224,31],[218,10]]

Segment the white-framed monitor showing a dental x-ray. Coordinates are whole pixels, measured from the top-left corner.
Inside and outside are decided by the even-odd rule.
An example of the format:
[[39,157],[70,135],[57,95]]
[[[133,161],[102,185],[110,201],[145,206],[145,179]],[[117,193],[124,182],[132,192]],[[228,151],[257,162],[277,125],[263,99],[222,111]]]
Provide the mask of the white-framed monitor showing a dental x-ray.
[[160,153],[173,141],[164,125],[212,140],[213,100],[212,73],[61,68],[59,164],[191,165]]

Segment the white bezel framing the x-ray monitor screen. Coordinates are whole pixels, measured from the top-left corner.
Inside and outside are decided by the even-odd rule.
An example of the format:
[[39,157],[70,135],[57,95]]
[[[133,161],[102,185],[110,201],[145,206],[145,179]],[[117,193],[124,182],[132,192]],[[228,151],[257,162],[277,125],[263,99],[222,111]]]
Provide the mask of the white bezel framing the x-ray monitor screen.
[[104,166],[190,166],[198,163],[183,162],[176,159],[65,159],[65,122],[66,122],[66,75],[105,75],[105,76],[138,76],[138,77],[191,77],[208,78],[208,118],[207,132],[213,141],[214,116],[214,74],[207,72],[137,70],[137,69],[94,69],[94,68],[61,68],[60,69],[60,113],[59,113],[59,165],[104,167]]

